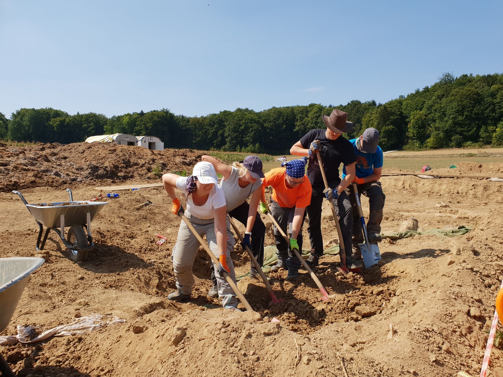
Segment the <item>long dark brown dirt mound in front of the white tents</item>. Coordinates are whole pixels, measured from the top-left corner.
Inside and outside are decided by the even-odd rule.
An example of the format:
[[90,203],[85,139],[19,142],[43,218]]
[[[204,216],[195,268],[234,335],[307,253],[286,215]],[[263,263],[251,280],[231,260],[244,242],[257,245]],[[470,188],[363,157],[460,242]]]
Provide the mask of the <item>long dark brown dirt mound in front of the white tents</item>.
[[150,150],[115,143],[0,146],[0,192],[83,182],[158,180],[165,172],[190,173],[201,155],[192,149]]

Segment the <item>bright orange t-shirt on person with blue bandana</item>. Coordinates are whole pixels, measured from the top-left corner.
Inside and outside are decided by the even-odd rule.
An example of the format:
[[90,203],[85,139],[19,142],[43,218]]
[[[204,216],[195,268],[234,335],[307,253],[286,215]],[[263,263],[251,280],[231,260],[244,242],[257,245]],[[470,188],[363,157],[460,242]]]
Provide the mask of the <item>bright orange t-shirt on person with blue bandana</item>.
[[286,167],[277,167],[269,170],[262,178],[264,187],[273,186],[273,200],[281,207],[305,208],[311,204],[311,183],[304,174],[304,182],[292,189],[285,182]]

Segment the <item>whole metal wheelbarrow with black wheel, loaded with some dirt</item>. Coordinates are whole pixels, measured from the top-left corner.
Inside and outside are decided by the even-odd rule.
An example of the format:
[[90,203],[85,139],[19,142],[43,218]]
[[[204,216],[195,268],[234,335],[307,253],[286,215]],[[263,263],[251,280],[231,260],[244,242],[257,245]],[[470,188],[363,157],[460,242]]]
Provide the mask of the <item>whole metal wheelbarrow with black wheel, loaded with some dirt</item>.
[[[39,226],[36,244],[37,251],[44,249],[45,241],[52,229],[69,249],[70,259],[78,262],[86,260],[88,252],[94,249],[95,244],[91,236],[91,221],[100,213],[103,206],[108,203],[73,201],[71,190],[66,189],[66,191],[70,196],[70,201],[57,203],[28,204],[23,194],[19,191],[13,191],[13,194],[19,195]],[[42,239],[43,226],[46,226],[47,229]],[[70,229],[65,238],[65,227],[67,226]]]

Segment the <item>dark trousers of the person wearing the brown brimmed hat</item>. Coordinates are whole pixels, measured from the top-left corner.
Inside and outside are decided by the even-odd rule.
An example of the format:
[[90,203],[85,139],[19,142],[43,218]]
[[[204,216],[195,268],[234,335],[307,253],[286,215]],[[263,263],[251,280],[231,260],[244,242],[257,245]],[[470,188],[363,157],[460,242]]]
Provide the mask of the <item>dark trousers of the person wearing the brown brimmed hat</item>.
[[[335,189],[339,183],[340,181],[328,182],[328,187],[330,187],[330,189]],[[318,256],[323,255],[323,238],[321,236],[321,205],[323,201],[326,200],[325,195],[323,194],[324,189],[325,186],[316,186],[312,188],[311,204],[306,209],[307,217],[309,218],[307,232],[309,233],[311,252]],[[339,195],[339,199],[333,199],[332,203],[336,207],[336,211],[340,217],[339,225],[341,226],[343,240],[339,240],[339,242],[344,242],[346,255],[349,256],[352,254],[351,235],[353,230],[351,202],[346,192],[343,191]],[[337,236],[337,238],[339,238],[335,224],[333,224],[333,233]]]

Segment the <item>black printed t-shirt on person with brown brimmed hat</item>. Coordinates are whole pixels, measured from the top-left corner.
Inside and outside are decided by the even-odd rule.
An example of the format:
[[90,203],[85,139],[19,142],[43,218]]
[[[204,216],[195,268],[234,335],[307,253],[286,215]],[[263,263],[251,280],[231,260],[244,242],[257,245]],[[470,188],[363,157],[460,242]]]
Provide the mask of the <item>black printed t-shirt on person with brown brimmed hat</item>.
[[[302,144],[302,148],[309,148],[311,143],[318,139],[321,142],[320,156],[325,169],[326,180],[328,182],[339,182],[341,181],[341,178],[339,178],[339,166],[341,162],[344,165],[356,162],[355,151],[353,150],[353,144],[351,144],[348,139],[343,136],[339,136],[336,140],[327,139],[325,131],[326,130],[309,131],[302,136],[300,144]],[[319,169],[318,159],[315,156],[314,158],[309,158],[307,177],[313,187],[323,185],[323,177]]]

